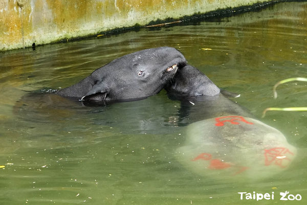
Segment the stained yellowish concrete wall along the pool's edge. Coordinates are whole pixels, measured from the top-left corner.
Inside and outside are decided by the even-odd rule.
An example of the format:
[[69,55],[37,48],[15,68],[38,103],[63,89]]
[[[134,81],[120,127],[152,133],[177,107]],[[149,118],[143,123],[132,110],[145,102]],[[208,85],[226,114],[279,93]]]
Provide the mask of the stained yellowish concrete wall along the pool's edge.
[[0,51],[272,0],[0,0]]

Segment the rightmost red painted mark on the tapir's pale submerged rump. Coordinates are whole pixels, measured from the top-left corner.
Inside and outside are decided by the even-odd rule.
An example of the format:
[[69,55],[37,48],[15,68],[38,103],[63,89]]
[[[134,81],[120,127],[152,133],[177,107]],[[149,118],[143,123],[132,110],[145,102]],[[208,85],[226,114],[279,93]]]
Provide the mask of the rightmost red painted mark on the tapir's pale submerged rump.
[[286,154],[294,155],[287,148],[272,148],[265,150],[265,165],[270,166],[274,163],[281,168],[287,167],[291,159],[289,159]]

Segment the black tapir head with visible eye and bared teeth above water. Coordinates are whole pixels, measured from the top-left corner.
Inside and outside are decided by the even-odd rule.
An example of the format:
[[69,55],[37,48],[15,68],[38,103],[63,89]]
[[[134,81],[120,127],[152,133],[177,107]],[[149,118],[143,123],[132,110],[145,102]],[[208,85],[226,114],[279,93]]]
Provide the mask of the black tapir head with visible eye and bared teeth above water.
[[157,94],[186,59],[177,49],[145,49],[117,58],[57,94],[81,100],[137,99]]

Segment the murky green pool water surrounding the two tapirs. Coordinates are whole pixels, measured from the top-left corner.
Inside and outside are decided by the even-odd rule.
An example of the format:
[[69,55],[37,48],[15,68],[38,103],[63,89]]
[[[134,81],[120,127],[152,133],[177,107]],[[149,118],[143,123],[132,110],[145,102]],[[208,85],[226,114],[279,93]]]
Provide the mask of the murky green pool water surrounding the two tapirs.
[[[268,112],[261,121],[297,148],[288,170],[266,179],[224,181],[176,158],[185,143],[179,101],[166,92],[107,107],[48,104],[29,91],[64,88],[138,50],[171,46],[260,118],[267,107],[306,106],[307,3],[280,3],[232,17],[0,53],[0,204],[304,204],[306,112]],[[48,101],[47,101],[48,102]],[[257,176],[254,176],[257,178]],[[281,201],[279,192],[300,194]],[[275,192],[240,200],[237,192]]]

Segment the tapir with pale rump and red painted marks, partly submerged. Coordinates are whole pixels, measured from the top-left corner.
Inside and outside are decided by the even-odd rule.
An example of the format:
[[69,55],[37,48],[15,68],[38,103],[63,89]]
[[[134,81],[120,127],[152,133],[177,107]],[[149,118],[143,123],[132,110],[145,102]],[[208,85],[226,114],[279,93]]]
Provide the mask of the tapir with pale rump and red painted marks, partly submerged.
[[209,178],[246,181],[289,167],[296,148],[280,131],[221,94],[205,74],[195,78],[196,68],[182,71],[166,89],[182,101],[181,123],[188,126],[177,156],[188,169]]

